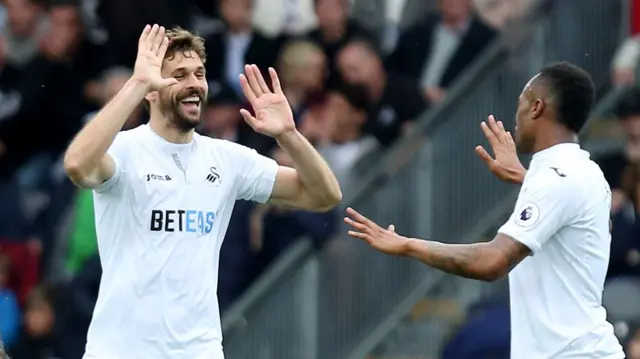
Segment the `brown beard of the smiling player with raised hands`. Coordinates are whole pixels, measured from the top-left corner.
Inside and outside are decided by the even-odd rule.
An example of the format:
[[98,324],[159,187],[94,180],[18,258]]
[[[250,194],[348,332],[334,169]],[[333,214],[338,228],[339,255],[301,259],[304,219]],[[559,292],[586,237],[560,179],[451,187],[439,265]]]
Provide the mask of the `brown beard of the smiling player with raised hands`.
[[[200,99],[197,110],[187,109],[182,103],[182,100],[192,96],[197,96]],[[206,96],[202,90],[188,89],[179,92],[173,97],[171,97],[171,94],[166,97],[161,96],[160,111],[172,126],[182,132],[188,132],[200,124],[202,109],[205,105]]]

